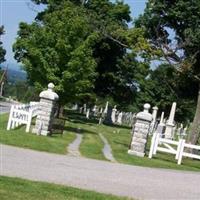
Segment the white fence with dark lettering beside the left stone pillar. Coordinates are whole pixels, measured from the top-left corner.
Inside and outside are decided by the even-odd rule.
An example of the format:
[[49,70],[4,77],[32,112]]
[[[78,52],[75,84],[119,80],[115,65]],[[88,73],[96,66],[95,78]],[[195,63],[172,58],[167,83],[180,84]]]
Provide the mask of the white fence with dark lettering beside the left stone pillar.
[[26,125],[26,132],[30,131],[32,118],[38,114],[39,102],[30,104],[12,105],[7,124],[7,130],[14,129],[22,124]]

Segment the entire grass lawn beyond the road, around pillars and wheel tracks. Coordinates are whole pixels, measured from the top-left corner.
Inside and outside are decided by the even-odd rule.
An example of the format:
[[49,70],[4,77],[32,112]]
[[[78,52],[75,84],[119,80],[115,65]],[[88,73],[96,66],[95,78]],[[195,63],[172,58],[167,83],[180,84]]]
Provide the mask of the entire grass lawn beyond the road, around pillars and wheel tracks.
[[[131,140],[130,127],[98,125],[97,120],[87,120],[85,116],[70,111],[66,113],[66,116],[66,133],[64,133],[62,137],[60,135],[43,137],[25,133],[24,127],[6,131],[7,115],[0,115],[0,142],[40,151],[65,154],[67,145],[75,139],[75,133],[79,131],[83,134],[83,141],[80,145],[81,155],[88,158],[105,160],[102,153],[103,143],[98,135],[98,133],[101,133],[107,138],[112,147],[115,159],[120,163],[146,167],[200,171],[199,160],[183,158],[182,164],[177,165],[174,155],[170,154],[158,153],[153,159],[129,155],[127,151]],[[149,146],[150,138],[148,140],[147,151],[149,151]]]

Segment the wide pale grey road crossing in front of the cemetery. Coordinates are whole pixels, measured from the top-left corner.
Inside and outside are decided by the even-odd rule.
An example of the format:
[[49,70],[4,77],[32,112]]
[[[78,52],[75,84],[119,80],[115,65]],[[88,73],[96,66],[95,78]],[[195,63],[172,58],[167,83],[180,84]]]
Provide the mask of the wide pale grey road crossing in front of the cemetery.
[[136,167],[0,145],[1,175],[136,199],[200,199],[200,173]]

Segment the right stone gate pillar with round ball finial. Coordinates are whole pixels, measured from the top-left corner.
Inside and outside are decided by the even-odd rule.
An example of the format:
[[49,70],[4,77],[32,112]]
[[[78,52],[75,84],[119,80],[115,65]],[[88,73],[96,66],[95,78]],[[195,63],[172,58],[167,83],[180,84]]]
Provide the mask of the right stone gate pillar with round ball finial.
[[147,137],[150,131],[152,115],[149,113],[150,104],[144,104],[144,111],[136,115],[136,121],[133,127],[132,140],[128,154],[144,157]]

